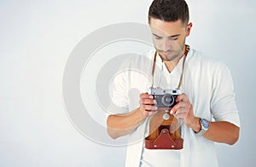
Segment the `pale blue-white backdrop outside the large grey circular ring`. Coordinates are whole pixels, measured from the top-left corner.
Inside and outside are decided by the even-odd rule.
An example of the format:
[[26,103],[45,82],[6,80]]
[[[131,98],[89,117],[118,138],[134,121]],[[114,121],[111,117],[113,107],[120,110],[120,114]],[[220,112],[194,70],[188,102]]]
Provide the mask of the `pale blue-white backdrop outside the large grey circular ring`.
[[[69,121],[62,75],[79,41],[102,26],[147,23],[149,0],[0,1],[0,166],[124,166],[125,147],[87,140]],[[241,116],[235,146],[217,144],[220,166],[255,162],[254,0],[188,0],[188,43],[224,60]]]

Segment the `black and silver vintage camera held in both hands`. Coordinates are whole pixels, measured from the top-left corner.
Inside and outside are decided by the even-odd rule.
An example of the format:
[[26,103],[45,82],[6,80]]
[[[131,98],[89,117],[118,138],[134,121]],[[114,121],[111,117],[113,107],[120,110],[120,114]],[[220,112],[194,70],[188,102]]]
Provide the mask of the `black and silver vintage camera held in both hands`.
[[181,89],[149,88],[148,94],[154,96],[156,107],[172,108],[176,104],[177,95],[181,95]]

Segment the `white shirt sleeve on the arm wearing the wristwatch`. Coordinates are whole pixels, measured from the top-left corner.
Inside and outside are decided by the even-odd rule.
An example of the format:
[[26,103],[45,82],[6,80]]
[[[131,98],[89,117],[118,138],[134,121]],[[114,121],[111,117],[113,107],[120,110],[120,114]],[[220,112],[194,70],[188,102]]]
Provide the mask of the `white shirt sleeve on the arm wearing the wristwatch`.
[[221,62],[218,63],[213,75],[211,112],[216,121],[227,121],[240,127],[231,73]]

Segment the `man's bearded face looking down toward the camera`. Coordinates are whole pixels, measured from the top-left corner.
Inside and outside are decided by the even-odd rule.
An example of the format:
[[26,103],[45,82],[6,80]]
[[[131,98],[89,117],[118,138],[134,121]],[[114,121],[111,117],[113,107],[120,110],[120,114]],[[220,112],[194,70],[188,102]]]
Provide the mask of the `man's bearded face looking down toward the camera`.
[[185,39],[189,36],[192,24],[184,25],[181,20],[163,21],[150,19],[154,47],[162,60],[175,60],[183,54]]

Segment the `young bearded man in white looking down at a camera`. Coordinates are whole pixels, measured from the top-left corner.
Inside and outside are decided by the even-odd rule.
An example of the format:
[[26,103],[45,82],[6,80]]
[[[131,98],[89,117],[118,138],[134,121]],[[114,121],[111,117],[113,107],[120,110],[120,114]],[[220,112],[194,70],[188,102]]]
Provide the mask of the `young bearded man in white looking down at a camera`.
[[[127,147],[126,166],[218,166],[213,142],[233,145],[239,138],[240,121],[230,71],[223,63],[195,49],[190,49],[184,60],[185,41],[192,28],[185,1],[154,0],[148,23],[155,48],[148,53],[148,59],[153,61],[156,52],[155,63],[161,69],[154,72],[154,81],[159,80],[157,86],[176,88],[181,75],[183,78],[184,93],[177,96],[177,104],[170,111],[183,122],[180,127],[183,149],[144,147],[148,120],[160,110],[154,97],[143,93],[150,87],[148,78],[132,71],[114,79],[113,103],[122,106],[122,111],[108,117],[108,135],[112,138],[129,135],[133,139],[133,144]],[[143,57],[130,60],[128,66],[151,72],[152,66],[146,61]],[[162,78],[166,78],[166,83],[161,83]],[[133,88],[141,92],[139,100],[129,95]]]

